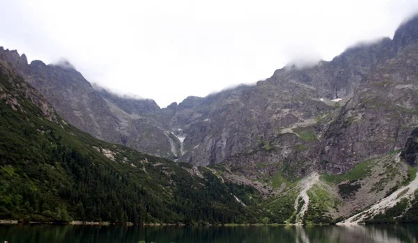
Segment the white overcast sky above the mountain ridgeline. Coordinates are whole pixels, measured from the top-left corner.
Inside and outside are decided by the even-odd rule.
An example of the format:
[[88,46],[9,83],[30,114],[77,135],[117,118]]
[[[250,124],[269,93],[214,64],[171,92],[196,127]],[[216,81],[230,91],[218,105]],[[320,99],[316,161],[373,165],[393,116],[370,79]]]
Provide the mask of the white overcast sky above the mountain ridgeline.
[[393,37],[417,0],[0,0],[0,46],[165,107]]

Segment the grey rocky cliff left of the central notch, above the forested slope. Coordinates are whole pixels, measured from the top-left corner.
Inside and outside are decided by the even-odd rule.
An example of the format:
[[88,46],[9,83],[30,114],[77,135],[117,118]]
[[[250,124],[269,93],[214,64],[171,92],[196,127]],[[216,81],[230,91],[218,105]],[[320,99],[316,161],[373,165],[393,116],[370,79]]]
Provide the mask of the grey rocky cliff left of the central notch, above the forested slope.
[[16,67],[61,116],[82,131],[157,156],[173,156],[164,129],[145,116],[160,110],[155,102],[122,99],[104,90],[95,90],[70,65],[45,65],[38,60],[28,64],[26,56],[3,48],[0,59]]

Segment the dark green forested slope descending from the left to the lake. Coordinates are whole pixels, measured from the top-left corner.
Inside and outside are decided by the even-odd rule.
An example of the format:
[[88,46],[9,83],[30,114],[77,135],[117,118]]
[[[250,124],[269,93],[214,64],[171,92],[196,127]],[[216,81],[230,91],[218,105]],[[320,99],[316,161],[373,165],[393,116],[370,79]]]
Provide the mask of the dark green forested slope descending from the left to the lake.
[[204,169],[204,178],[192,176],[184,163],[96,140],[58,116],[49,121],[25,86],[0,69],[0,219],[243,224],[266,216],[252,187]]

